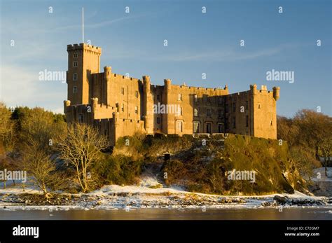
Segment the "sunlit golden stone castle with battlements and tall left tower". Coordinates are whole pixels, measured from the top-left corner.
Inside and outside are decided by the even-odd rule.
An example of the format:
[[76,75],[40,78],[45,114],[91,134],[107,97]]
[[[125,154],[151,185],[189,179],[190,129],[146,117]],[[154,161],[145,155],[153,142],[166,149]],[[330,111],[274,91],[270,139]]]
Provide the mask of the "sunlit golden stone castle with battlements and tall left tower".
[[277,139],[279,87],[268,91],[265,85],[261,90],[250,85],[250,90],[229,94],[227,85],[198,88],[173,85],[170,79],[152,85],[149,76],[114,74],[111,67],[100,72],[99,47],[74,44],[67,46],[67,52],[67,122],[97,126],[112,146],[119,137],[135,132],[234,133]]

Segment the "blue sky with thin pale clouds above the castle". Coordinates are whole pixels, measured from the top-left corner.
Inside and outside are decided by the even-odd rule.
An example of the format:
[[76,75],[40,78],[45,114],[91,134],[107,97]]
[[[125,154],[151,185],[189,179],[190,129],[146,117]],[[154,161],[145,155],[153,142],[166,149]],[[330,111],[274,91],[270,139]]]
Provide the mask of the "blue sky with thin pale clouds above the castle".
[[[39,72],[67,71],[67,44],[82,42],[84,7],[85,41],[102,48],[101,68],[149,75],[156,85],[164,78],[209,88],[228,84],[232,93],[253,83],[280,86],[279,115],[321,106],[332,116],[330,0],[0,3],[0,99],[8,106],[62,112],[67,84],[39,81]],[[294,71],[294,83],[267,81],[272,69]]]

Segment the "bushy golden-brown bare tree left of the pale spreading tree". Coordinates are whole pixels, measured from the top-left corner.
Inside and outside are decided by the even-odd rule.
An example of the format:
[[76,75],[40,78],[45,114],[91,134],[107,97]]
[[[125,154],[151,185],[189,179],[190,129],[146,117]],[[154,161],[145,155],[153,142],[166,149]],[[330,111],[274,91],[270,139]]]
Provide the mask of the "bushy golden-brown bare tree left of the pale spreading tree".
[[27,111],[21,121],[22,169],[33,176],[36,186],[46,197],[51,194],[48,188],[57,188],[64,180],[56,171],[53,144],[65,134],[66,124],[55,122],[53,113],[41,108]]

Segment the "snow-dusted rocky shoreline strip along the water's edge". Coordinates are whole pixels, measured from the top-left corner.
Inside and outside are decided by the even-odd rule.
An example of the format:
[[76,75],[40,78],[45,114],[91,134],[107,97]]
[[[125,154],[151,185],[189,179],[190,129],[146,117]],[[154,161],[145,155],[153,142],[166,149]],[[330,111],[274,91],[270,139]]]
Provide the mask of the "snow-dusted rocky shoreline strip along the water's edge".
[[[30,193],[29,193],[30,192]],[[0,210],[73,209],[259,209],[331,207],[332,197],[294,194],[210,195],[181,188],[109,185],[91,193],[59,193],[45,199],[39,190],[0,190]]]

